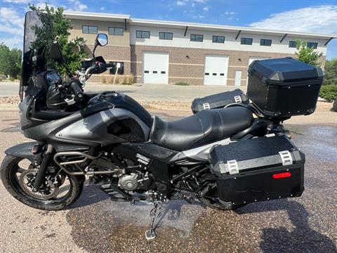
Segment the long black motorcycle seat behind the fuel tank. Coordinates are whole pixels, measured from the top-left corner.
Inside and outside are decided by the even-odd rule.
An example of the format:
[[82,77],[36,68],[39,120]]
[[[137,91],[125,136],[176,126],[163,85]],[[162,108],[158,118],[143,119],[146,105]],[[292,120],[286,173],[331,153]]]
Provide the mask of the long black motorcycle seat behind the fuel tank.
[[244,107],[202,110],[172,122],[154,116],[150,140],[164,148],[189,150],[237,134],[252,122],[251,110]]

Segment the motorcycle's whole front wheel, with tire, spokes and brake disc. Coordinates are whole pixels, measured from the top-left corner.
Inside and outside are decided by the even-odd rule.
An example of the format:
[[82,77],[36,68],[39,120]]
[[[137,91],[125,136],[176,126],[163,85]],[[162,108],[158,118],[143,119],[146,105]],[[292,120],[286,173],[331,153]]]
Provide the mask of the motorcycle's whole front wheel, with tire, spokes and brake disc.
[[70,176],[58,168],[50,166],[50,174],[42,186],[34,192],[37,168],[29,161],[6,155],[1,164],[1,181],[8,193],[29,207],[56,211],[72,205],[81,195],[84,176]]

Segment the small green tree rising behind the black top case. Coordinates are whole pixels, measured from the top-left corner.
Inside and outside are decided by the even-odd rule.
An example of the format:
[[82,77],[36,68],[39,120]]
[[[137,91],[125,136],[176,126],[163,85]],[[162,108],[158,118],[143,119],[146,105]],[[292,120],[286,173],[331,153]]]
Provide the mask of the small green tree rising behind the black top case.
[[323,55],[323,53],[315,51],[314,47],[308,47],[307,41],[296,40],[296,48],[298,51],[295,54],[298,60],[315,67],[319,67],[321,65],[321,63],[319,63],[319,58]]

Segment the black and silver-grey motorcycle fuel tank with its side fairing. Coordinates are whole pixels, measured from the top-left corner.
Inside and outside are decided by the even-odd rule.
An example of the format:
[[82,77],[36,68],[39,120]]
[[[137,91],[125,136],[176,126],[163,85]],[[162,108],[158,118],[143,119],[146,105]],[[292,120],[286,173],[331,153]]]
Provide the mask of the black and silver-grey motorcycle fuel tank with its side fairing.
[[24,133],[37,141],[110,145],[148,141],[151,126],[150,113],[136,100],[106,91],[93,96],[84,110],[26,129]]

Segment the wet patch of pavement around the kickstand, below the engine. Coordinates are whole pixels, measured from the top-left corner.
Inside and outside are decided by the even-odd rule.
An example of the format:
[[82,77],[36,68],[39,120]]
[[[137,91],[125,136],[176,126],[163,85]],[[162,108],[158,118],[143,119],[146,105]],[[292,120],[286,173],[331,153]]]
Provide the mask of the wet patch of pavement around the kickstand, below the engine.
[[199,202],[164,203],[163,214],[155,222],[157,238],[147,242],[145,231],[150,226],[151,207],[149,202],[136,202],[134,206],[130,202],[112,202],[95,186],[86,186],[69,210],[67,221],[74,241],[89,251],[142,251],[140,247],[149,247],[149,243],[157,248],[158,242],[160,247],[178,249],[189,241],[194,223],[206,212]]

